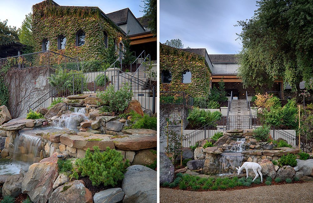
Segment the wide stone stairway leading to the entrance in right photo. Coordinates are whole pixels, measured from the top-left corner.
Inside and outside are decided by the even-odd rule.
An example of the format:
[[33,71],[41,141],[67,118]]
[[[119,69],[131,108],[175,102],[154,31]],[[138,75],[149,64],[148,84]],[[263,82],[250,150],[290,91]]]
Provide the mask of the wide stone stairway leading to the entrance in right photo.
[[228,129],[248,129],[250,124],[250,111],[245,99],[232,100],[228,116]]

